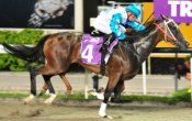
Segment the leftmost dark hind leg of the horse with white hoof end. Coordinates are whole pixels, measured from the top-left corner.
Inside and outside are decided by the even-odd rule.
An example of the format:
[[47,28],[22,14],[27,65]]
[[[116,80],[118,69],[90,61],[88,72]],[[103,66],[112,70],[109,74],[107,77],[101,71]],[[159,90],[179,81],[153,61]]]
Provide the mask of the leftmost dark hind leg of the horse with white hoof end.
[[36,75],[34,67],[30,68],[30,79],[31,79],[31,95],[24,99],[25,103],[32,101],[36,96]]

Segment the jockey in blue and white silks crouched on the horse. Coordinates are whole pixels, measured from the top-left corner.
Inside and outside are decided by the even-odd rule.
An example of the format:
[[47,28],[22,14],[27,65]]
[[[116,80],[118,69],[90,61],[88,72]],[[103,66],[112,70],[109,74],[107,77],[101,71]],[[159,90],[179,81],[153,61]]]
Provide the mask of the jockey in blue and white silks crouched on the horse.
[[[131,26],[136,31],[145,30],[145,26],[136,22],[136,19],[140,15],[140,9],[132,3],[125,8],[116,7],[102,11],[95,19],[93,34],[104,33],[108,38],[104,37],[103,45],[101,47],[102,61],[101,66],[104,63],[105,54],[108,53],[108,46],[115,40],[126,40],[126,29],[124,26]],[[103,62],[103,63],[102,63]],[[104,64],[105,65],[105,64]]]

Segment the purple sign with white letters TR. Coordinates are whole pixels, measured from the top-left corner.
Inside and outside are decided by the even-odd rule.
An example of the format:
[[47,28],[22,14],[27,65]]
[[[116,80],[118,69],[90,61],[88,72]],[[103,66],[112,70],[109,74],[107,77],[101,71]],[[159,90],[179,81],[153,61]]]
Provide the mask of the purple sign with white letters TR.
[[154,0],[155,16],[168,15],[179,23],[192,23],[192,0]]

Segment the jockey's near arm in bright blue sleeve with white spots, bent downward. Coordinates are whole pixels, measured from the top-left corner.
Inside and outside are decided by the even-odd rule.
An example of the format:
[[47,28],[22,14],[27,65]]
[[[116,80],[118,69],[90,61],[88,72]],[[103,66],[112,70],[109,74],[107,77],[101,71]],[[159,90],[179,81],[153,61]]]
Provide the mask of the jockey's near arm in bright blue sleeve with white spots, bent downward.
[[115,34],[115,36],[120,41],[126,38],[126,35],[124,33],[122,33],[118,29],[121,21],[122,21],[122,15],[120,13],[116,13],[113,15],[113,18],[110,22],[110,28],[111,28],[112,32]]

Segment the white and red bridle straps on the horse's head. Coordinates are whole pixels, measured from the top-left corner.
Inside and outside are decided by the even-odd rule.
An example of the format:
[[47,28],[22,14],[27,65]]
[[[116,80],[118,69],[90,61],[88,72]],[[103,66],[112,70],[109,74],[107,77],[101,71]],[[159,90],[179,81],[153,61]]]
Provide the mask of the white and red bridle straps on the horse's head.
[[[169,21],[163,20],[163,25],[165,25],[163,29],[162,29],[159,24],[157,24],[157,23],[154,23],[154,24],[157,26],[158,30],[160,30],[160,31],[163,33],[163,35],[165,35],[165,41],[166,41],[166,42],[168,42],[168,38],[170,38],[170,40],[172,40],[172,41],[176,43],[176,42],[177,42],[177,38],[174,37],[174,35],[172,34],[170,28],[168,26],[168,24],[171,23],[171,22],[174,23],[174,21],[171,20],[171,19],[169,19]],[[176,24],[176,23],[174,23],[174,24]],[[178,26],[178,25],[177,25],[177,26]],[[169,34],[168,34],[167,32],[169,32]]]

